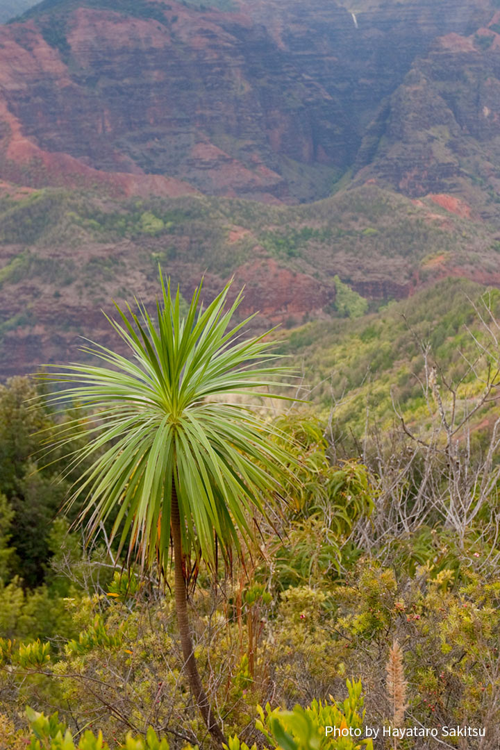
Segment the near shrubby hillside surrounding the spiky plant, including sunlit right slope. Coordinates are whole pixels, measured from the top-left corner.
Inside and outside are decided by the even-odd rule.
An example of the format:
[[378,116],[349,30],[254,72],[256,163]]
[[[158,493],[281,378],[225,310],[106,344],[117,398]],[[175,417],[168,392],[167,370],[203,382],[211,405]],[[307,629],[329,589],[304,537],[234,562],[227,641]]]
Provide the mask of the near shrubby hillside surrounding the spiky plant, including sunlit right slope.
[[[293,440],[300,481],[259,521],[260,553],[201,567],[192,581],[196,658],[230,743],[283,747],[283,730],[316,747],[298,727],[305,721],[319,742],[325,717],[338,727],[483,727],[491,746],[499,739],[499,295],[444,281],[413,301],[313,323],[280,344],[295,362],[302,353],[302,395],[310,389],[310,404],[274,417],[277,446]],[[0,392],[7,746],[28,738],[26,704],[59,711],[51,722],[28,712],[31,736],[46,743],[35,748],[57,748],[65,727],[68,743],[86,737],[82,748],[100,747],[91,744],[100,729],[110,748],[127,733],[134,750],[205,745],[182,669],[173,571],[165,587],[160,571],[144,578],[124,565],[111,517],[90,547],[68,529],[71,514],[55,517],[85,470],[65,455],[85,446],[92,417],[46,465],[37,457],[47,436],[72,415],[44,399],[33,408],[33,396],[21,378]],[[259,718],[267,702],[277,712]],[[296,703],[309,707],[283,713]],[[469,748],[481,742],[468,737]],[[427,745],[415,735],[409,747]]]

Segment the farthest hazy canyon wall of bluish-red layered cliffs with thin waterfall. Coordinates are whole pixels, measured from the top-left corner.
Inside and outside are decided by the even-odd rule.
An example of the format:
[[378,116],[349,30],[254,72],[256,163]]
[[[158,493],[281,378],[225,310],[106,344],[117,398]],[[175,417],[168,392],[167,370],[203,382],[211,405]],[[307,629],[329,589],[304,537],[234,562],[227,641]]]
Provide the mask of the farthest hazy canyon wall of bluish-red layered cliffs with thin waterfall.
[[43,0],[0,34],[0,177],[284,202],[349,175],[462,190],[498,150],[496,5]]

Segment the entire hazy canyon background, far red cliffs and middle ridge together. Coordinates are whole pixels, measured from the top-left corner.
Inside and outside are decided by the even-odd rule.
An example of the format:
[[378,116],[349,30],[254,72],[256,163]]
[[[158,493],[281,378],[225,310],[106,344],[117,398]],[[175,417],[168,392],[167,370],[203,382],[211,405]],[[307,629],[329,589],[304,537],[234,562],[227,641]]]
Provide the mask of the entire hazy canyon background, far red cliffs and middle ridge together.
[[336,314],[336,277],[373,306],[500,287],[498,6],[43,0],[1,26],[0,377],[154,297],[158,261],[186,295],[235,273],[269,323]]

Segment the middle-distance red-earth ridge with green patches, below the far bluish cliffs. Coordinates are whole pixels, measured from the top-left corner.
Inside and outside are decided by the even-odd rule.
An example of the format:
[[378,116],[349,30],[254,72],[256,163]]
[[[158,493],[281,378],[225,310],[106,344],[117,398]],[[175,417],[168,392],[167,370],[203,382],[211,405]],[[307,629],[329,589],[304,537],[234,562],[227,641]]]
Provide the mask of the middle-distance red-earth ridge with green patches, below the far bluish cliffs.
[[494,226],[375,185],[301,207],[11,186],[0,199],[0,375],[74,360],[79,336],[110,341],[101,308],[134,294],[153,302],[158,264],[186,298],[202,275],[207,293],[234,275],[242,314],[293,327],[350,314],[340,283],[362,312],[448,275],[500,285],[498,257]]

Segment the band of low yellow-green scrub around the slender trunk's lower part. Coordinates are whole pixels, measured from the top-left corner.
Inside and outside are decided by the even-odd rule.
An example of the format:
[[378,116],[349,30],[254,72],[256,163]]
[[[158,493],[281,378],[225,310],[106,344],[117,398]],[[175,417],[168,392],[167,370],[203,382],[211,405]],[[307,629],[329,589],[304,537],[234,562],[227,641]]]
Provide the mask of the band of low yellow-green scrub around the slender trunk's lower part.
[[[304,706],[311,693],[321,698],[317,706],[313,702],[304,709],[320,724],[325,721],[318,718],[323,710],[334,711],[329,703],[325,707],[325,696],[339,694],[352,674],[363,677],[367,705],[383,705],[384,666],[395,634],[405,652],[410,706],[419,721],[474,723],[488,712],[498,718],[500,584],[472,571],[481,559],[476,554],[466,551],[458,557],[461,584],[456,571],[435,570],[432,562],[410,575],[399,567],[359,559],[342,585],[318,588],[312,580],[313,586],[289,586],[274,609],[268,590],[254,582],[241,592],[241,621],[221,601],[214,605],[210,586],[200,584],[194,597],[199,616],[196,656],[202,670],[226,676],[217,687],[226,732],[251,744],[256,735],[243,727],[252,721],[256,705],[270,700],[271,689],[275,705]],[[484,556],[483,564],[486,560]],[[228,583],[226,601],[234,602],[237,592],[238,586]],[[245,651],[247,614],[254,609],[252,676]],[[168,722],[169,729],[201,741],[202,726],[190,707],[175,645],[172,599],[167,595],[148,603],[139,596],[130,606],[130,601],[104,595],[73,604],[73,610],[84,628],[74,641],[76,649],[73,645],[65,655],[53,652],[48,659],[47,644],[0,641],[2,664],[8,667],[0,672],[0,712],[15,714],[22,710],[22,701],[32,702],[34,696],[47,704],[57,701],[72,706],[80,726],[99,714],[96,725],[104,738],[112,742],[116,736],[124,742],[128,727],[119,713],[127,706],[125,718],[133,726],[143,726],[154,716],[157,731]],[[46,676],[50,673],[52,678]],[[19,698],[5,703],[14,689],[21,691]],[[354,726],[349,705],[335,703]],[[105,706],[115,706],[116,713],[103,712]],[[301,710],[294,714],[299,723]],[[355,703],[355,711],[362,717],[361,702]],[[283,730],[295,736],[287,716],[278,718],[283,718]]]

